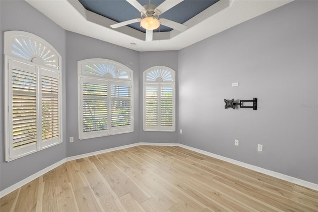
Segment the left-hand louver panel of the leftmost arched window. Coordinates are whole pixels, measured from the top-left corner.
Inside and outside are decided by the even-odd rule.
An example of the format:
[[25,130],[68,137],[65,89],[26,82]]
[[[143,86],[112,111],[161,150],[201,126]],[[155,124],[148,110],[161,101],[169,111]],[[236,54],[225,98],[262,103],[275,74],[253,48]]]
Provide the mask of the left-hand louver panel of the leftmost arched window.
[[36,75],[12,69],[13,148],[36,142]]

